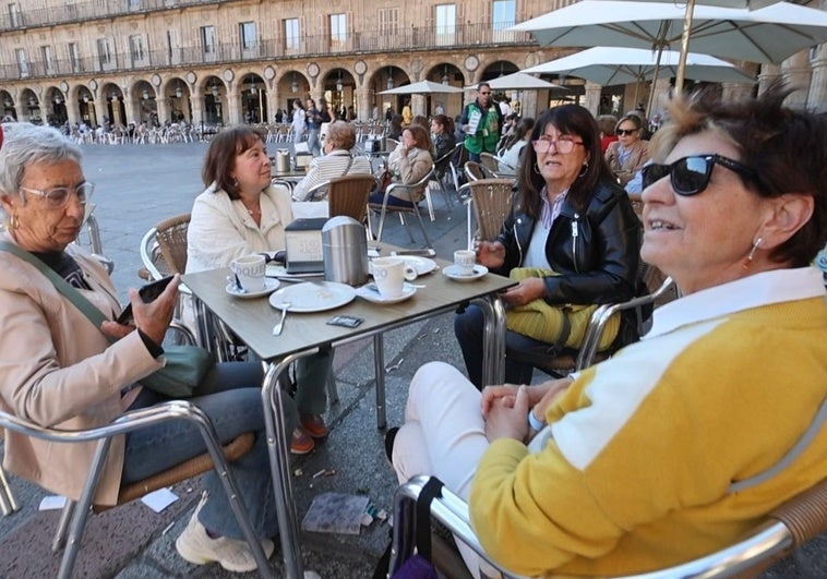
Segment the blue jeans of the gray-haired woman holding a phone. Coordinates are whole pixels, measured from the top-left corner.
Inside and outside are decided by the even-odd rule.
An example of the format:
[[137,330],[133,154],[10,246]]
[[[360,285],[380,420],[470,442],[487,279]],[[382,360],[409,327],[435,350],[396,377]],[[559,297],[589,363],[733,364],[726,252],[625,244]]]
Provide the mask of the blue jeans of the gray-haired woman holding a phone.
[[[255,435],[253,448],[230,465],[243,497],[253,529],[261,538],[278,534],[276,504],[269,475],[264,413],[261,399],[262,366],[255,362],[216,364],[190,399],[201,408],[224,444],[245,432]],[[298,424],[296,409],[285,398],[288,433]],[[130,407],[146,408],[168,400],[144,388]],[[206,451],[197,426],[187,421],[170,421],[127,435],[123,458],[123,483],[145,479]],[[204,477],[209,498],[199,520],[212,532],[231,539],[243,539],[232,508],[215,471]]]

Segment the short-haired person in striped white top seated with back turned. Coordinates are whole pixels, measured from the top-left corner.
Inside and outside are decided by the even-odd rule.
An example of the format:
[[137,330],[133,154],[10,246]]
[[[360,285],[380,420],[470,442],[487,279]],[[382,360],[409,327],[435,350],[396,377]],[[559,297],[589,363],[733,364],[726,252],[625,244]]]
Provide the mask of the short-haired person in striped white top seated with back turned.
[[371,164],[362,155],[353,157],[350,149],[356,146],[356,128],[349,122],[335,121],[327,129],[324,141],[324,156],[310,161],[310,168],[304,179],[292,190],[296,201],[321,201],[327,196],[327,191],[316,192],[309,198],[310,190],[319,183],[345,177],[346,174],[371,174]]

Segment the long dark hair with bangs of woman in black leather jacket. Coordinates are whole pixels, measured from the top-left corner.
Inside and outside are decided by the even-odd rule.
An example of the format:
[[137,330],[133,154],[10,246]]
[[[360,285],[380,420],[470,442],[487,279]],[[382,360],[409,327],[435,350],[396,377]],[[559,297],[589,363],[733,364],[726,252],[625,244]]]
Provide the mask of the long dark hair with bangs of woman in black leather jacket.
[[[535,123],[531,132],[531,141],[537,141],[546,132],[546,126],[553,125],[564,135],[572,135],[583,141],[586,150],[588,166],[585,171],[575,179],[568,189],[566,198],[578,212],[586,210],[591,194],[598,182],[602,179],[611,181],[612,173],[603,159],[600,148],[600,135],[597,122],[588,109],[579,105],[561,105],[547,110]],[[540,191],[546,186],[546,180],[537,168],[537,152],[528,145],[523,153],[523,161],[517,173],[519,207],[529,216],[537,219],[540,216],[542,201]]]

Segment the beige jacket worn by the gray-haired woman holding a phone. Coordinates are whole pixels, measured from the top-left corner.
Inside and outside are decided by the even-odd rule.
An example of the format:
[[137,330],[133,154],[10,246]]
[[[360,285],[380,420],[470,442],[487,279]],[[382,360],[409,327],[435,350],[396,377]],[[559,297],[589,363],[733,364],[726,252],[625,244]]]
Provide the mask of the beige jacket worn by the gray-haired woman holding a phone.
[[[8,236],[3,239],[14,243]],[[79,290],[108,317],[120,312],[109,276],[70,245],[92,290]],[[43,426],[84,430],[121,414],[122,387],[164,364],[137,331],[110,345],[33,265],[0,251],[0,408]],[[96,443],[57,444],[5,433],[3,467],[50,492],[77,499]],[[112,442],[96,504],[113,505],[123,438]]]

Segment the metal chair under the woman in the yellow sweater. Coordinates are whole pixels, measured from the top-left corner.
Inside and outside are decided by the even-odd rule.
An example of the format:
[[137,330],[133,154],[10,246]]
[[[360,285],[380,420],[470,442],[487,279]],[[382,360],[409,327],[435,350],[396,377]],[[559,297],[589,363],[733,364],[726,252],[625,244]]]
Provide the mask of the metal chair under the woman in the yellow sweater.
[[[413,552],[417,524],[416,502],[428,477],[415,477],[394,496],[394,535],[389,571],[393,575]],[[454,533],[503,577],[520,578],[492,560],[471,529],[468,505],[443,487],[431,503],[431,518]],[[811,539],[827,531],[827,480],[804,491],[767,515],[766,520],[738,543],[709,555],[657,571],[625,576],[626,579],[674,579],[676,577],[753,577]],[[443,570],[454,577],[451,569]],[[465,569],[462,569],[464,571]]]

